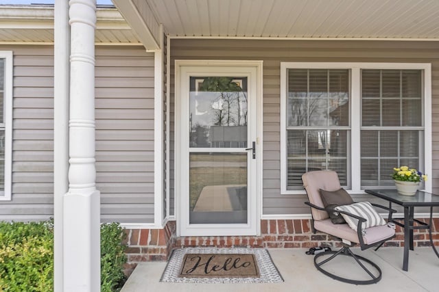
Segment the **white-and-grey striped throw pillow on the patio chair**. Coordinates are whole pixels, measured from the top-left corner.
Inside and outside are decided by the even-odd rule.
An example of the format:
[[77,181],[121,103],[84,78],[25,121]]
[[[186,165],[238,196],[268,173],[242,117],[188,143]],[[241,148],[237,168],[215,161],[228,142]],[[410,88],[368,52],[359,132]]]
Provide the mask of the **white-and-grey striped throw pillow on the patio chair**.
[[[354,215],[358,215],[359,217],[363,217],[366,219],[366,222],[363,222],[361,224],[361,231],[364,231],[366,228],[372,227],[372,226],[380,226],[385,225],[385,220],[375,209],[373,209],[372,204],[370,202],[359,202],[354,204],[348,204],[344,206],[338,206],[334,208],[338,211],[346,211],[348,213],[352,213]],[[351,217],[346,214],[342,214],[344,217],[344,220],[348,223],[349,227],[351,227],[353,230],[357,231],[358,226],[358,220],[354,217]]]

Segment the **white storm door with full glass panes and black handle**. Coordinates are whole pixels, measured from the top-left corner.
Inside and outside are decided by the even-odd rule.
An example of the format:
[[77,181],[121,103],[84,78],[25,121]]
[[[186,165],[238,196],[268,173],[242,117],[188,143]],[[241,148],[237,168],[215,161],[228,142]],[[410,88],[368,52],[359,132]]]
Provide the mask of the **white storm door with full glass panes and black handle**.
[[258,68],[178,66],[182,236],[258,233]]

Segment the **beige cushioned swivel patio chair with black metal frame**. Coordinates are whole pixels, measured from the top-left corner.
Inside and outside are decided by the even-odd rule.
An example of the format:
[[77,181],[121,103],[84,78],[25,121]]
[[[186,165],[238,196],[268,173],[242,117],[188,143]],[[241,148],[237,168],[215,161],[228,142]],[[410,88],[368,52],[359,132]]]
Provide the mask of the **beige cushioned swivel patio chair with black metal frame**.
[[[353,203],[351,196],[340,186],[337,172],[332,170],[307,172],[302,175],[302,182],[309,200],[305,204],[311,207],[311,228],[313,233],[318,230],[342,241],[340,250],[328,250],[314,256],[316,268],[335,280],[351,284],[372,284],[381,280],[381,269],[378,265],[368,258],[354,254],[351,247],[358,244],[361,250],[374,246],[379,248],[385,241],[392,239],[395,236],[394,228],[388,226],[372,206],[387,210],[390,219],[392,213],[396,210],[379,204],[370,204],[369,202]],[[326,196],[322,196],[323,194]],[[335,200],[335,204],[328,202],[331,200]],[[337,201],[339,201],[338,204]],[[344,201],[345,204],[340,201]],[[367,207],[366,215],[363,210],[364,207]],[[335,217],[340,219],[340,215],[347,223],[336,220]],[[368,217],[368,219],[366,220],[365,217]],[[355,262],[366,272],[361,280],[340,276],[340,274],[346,274],[346,271],[343,271],[344,267],[340,267],[339,271],[342,271],[341,273],[324,269],[324,264],[339,255],[351,256],[355,259]]]

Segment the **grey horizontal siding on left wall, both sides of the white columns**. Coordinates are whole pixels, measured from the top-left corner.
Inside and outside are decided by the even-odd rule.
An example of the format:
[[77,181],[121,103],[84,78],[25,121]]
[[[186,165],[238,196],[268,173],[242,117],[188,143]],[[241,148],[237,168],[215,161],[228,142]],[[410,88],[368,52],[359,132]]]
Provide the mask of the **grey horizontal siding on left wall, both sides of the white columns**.
[[[54,51],[14,54],[12,200],[0,220],[53,217]],[[96,48],[96,170],[102,222],[154,222],[154,55],[143,47]]]

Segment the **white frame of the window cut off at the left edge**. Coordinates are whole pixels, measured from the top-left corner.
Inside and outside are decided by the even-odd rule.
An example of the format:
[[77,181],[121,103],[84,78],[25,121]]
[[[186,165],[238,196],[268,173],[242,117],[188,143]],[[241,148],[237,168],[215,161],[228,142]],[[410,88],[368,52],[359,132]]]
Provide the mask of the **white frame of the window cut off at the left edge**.
[[3,119],[0,129],[5,130],[5,189],[0,191],[0,200],[12,199],[12,51],[0,51],[0,59],[5,59],[4,88],[3,88]]

